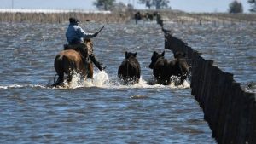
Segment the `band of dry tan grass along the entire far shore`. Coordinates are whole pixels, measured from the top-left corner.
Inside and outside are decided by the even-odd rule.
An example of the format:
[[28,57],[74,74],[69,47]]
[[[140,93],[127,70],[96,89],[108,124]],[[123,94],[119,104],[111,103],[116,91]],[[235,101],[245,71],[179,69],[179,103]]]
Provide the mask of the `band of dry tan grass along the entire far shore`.
[[[153,14],[155,10],[134,10],[127,12],[111,13],[83,13],[83,12],[63,12],[63,13],[44,13],[44,12],[1,12],[0,21],[2,22],[39,22],[39,23],[62,23],[69,17],[78,17],[81,21],[95,21],[103,23],[125,23],[133,19],[134,14],[140,11],[142,14]],[[228,14],[228,13],[185,13],[175,10],[159,10],[164,21],[177,23],[256,23],[256,14]]]

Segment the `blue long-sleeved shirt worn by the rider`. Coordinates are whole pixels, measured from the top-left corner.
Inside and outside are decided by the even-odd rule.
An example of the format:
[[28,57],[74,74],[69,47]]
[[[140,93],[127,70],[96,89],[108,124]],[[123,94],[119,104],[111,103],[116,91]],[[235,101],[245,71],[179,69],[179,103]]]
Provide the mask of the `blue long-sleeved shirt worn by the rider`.
[[92,37],[94,37],[93,33],[84,32],[84,30],[76,24],[69,24],[67,28],[66,38],[69,44],[84,43],[84,39],[90,39]]

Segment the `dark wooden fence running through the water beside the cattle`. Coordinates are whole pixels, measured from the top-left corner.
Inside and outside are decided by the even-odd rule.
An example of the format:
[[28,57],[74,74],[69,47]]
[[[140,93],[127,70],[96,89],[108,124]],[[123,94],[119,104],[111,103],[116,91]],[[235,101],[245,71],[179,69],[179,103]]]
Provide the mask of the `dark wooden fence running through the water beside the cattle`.
[[233,74],[223,72],[212,60],[177,37],[165,34],[165,49],[187,54],[191,67],[191,95],[199,101],[212,137],[221,144],[256,143],[256,95],[236,83]]

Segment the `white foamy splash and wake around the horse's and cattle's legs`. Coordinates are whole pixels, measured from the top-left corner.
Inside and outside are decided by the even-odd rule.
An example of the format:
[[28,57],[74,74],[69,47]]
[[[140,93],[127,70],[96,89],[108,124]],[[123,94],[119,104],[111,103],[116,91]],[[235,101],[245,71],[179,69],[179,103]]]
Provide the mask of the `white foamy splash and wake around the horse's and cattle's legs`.
[[77,72],[73,72],[73,79],[71,82],[67,82],[65,80],[63,82],[63,86],[52,88],[49,84],[46,85],[40,85],[40,84],[10,84],[10,85],[0,85],[0,89],[14,89],[14,88],[42,88],[42,89],[78,89],[78,88],[90,88],[90,87],[97,87],[97,88],[104,88],[104,89],[155,89],[155,88],[161,88],[161,89],[188,89],[190,88],[190,84],[187,80],[183,82],[183,85],[177,85],[176,82],[173,81],[169,85],[161,85],[156,84],[153,79],[145,80],[143,77],[139,79],[139,82],[137,84],[123,84],[122,81],[117,78],[116,76],[109,77],[108,73],[105,71],[96,71],[94,72],[94,77],[92,79],[86,78],[84,80],[81,78],[80,74]]

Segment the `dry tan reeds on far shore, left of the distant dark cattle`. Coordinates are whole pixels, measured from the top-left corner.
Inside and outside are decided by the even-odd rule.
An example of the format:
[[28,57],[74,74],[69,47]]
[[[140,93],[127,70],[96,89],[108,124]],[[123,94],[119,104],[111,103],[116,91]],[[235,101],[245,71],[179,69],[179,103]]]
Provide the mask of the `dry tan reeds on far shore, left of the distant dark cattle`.
[[68,20],[69,17],[78,17],[81,21],[96,21],[96,22],[126,22],[131,20],[130,14],[117,13],[0,13],[1,22],[39,22],[39,23],[61,23]]

